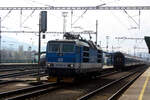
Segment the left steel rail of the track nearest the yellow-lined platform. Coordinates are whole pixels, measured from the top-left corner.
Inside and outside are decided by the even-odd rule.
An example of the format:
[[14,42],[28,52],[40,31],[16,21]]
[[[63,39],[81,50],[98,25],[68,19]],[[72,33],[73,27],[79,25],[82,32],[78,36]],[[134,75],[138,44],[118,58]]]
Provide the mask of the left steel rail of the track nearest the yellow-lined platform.
[[89,99],[90,97],[94,96],[96,93],[102,91],[103,89],[105,89],[105,88],[107,88],[107,87],[109,87],[109,86],[111,86],[111,85],[113,85],[113,84],[115,84],[115,83],[117,83],[117,82],[119,82],[119,81],[125,79],[125,78],[128,78],[128,77],[134,75],[134,74],[137,73],[137,72],[139,72],[139,70],[138,70],[138,71],[135,71],[135,72],[132,72],[132,73],[126,75],[126,76],[123,76],[123,77],[121,77],[121,78],[119,78],[119,79],[117,79],[117,80],[115,80],[115,81],[113,81],[113,82],[111,82],[111,83],[109,83],[109,84],[106,84],[105,86],[102,86],[102,87],[100,87],[100,88],[98,88],[98,89],[96,89],[96,90],[94,90],[94,91],[92,91],[92,92],[90,92],[90,93],[87,93],[87,94],[85,94],[84,96],[78,98],[77,100],[87,100],[87,99]]

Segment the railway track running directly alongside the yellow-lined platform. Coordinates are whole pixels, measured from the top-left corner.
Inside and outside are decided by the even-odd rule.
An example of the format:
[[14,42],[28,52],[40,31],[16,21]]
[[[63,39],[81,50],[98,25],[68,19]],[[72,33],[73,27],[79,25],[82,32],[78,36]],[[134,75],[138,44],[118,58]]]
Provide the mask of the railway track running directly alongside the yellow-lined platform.
[[[101,100],[116,100],[118,98],[119,95],[121,95],[123,93],[123,91],[125,89],[127,89],[127,87],[129,85],[131,85],[143,72],[145,71],[145,69],[143,69],[142,71],[141,70],[137,70],[135,72],[132,72],[128,75],[125,75],[115,81],[112,81],[98,89],[95,89],[81,97],[79,97],[77,100],[99,100],[98,98],[101,98],[103,96],[105,96],[104,98],[101,98]],[[118,89],[117,91],[115,91],[110,97],[106,97],[108,93],[110,93],[110,90],[113,90],[112,87],[115,87],[113,86],[114,84],[117,84],[117,83],[120,83],[120,82],[123,82],[123,80],[131,77],[131,76],[135,76],[133,79],[131,79],[129,82],[127,82],[126,84],[124,84],[122,87],[120,87],[120,89]],[[118,86],[119,87],[119,86]],[[104,92],[105,91],[105,92]],[[112,91],[111,91],[112,92]],[[106,95],[107,94],[107,95]],[[110,94],[109,94],[110,95]]]

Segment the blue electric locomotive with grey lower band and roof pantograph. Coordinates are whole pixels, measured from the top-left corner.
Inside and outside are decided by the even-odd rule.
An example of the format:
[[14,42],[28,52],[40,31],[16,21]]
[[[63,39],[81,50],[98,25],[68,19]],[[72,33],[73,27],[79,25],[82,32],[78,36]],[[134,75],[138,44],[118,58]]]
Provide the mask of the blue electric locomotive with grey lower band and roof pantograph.
[[102,71],[102,50],[92,41],[65,34],[66,39],[47,43],[46,72],[50,81],[71,80]]

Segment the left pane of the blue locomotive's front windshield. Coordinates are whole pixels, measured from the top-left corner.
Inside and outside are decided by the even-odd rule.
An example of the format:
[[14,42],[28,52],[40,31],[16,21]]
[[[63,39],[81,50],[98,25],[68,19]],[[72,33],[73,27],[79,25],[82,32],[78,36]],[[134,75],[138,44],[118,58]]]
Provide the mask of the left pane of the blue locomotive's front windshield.
[[60,52],[60,44],[50,43],[48,45],[48,52]]

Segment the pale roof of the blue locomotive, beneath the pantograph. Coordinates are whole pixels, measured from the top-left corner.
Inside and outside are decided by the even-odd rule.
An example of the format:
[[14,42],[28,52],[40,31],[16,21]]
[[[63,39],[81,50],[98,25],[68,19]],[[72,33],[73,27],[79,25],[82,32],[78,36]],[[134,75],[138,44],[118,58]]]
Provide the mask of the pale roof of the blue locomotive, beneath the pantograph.
[[92,47],[92,48],[95,48],[95,49],[99,49],[101,50],[100,47],[94,45],[94,43],[92,41],[86,41],[86,40],[78,40],[78,39],[71,39],[71,40],[68,40],[68,39],[62,39],[62,40],[50,40],[48,41],[49,42],[53,42],[53,43],[57,43],[57,42],[62,42],[62,43],[75,43],[76,45],[78,46],[86,46],[86,47]]

